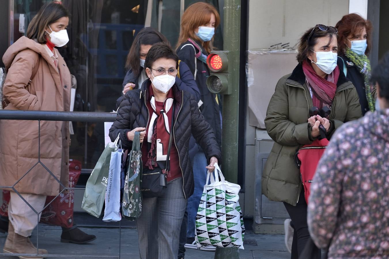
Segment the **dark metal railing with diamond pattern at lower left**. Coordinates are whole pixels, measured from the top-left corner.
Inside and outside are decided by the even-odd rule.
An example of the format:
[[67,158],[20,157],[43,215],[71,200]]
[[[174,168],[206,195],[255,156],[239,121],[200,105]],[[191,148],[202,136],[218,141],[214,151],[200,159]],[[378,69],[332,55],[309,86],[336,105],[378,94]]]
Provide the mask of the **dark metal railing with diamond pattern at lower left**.
[[[63,121],[63,122],[113,122],[116,118],[116,113],[103,113],[103,112],[70,112],[70,111],[19,111],[19,110],[0,110],[0,120],[36,120],[38,123],[38,161],[35,165],[28,170],[22,177],[16,181],[12,186],[2,186],[0,184],[0,189],[12,189],[18,196],[35,212],[37,215],[37,233],[39,233],[39,214],[42,213],[58,196],[60,196],[64,191],[67,190],[76,190],[76,189],[85,189],[85,188],[69,188],[64,186],[60,179],[58,179],[54,174],[42,163],[40,160],[40,121]],[[2,143],[0,143],[1,145]],[[28,174],[36,165],[42,165],[44,169],[60,184],[61,191],[58,195],[51,200],[48,204],[44,206],[42,211],[38,212],[35,210],[23,196],[15,189],[16,184],[21,181],[21,179]],[[119,222],[120,223],[120,222]],[[77,258],[106,258],[106,259],[120,259],[121,252],[121,226],[119,224],[119,254],[117,256],[101,256],[101,255],[74,255],[74,254],[38,254],[39,249],[39,235],[37,235],[37,253],[36,254],[7,254],[0,253],[0,256],[45,256],[45,257],[77,257]],[[102,247],[103,249],[103,247]]]

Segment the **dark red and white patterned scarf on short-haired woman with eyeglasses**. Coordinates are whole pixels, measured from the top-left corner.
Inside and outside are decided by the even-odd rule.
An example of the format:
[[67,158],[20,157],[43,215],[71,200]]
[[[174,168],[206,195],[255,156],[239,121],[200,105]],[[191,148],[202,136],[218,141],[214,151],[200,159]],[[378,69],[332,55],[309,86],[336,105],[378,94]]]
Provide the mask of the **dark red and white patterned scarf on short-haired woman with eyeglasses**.
[[149,169],[154,169],[158,166],[157,161],[166,162],[172,122],[173,91],[172,89],[169,90],[166,100],[163,102],[163,109],[158,111],[156,110],[156,101],[151,85],[148,90],[150,91],[150,102],[147,105],[150,105],[154,112],[151,115],[147,132],[147,142],[151,143],[151,148],[147,154],[145,165]]

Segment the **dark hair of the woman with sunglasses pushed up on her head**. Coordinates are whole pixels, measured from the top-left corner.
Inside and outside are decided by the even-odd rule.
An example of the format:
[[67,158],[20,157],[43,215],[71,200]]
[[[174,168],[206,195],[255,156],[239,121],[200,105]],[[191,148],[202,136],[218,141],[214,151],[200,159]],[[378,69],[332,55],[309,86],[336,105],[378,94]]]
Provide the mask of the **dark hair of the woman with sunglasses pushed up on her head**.
[[[313,31],[312,35],[311,32]],[[300,43],[298,45],[298,54],[297,61],[300,64],[303,64],[304,60],[308,59],[308,53],[312,51],[317,43],[317,38],[320,37],[329,37],[328,45],[332,42],[332,39],[336,38],[336,30],[333,27],[327,27],[326,31],[322,31],[319,27],[315,26],[314,28],[309,28],[303,36],[300,38]]]

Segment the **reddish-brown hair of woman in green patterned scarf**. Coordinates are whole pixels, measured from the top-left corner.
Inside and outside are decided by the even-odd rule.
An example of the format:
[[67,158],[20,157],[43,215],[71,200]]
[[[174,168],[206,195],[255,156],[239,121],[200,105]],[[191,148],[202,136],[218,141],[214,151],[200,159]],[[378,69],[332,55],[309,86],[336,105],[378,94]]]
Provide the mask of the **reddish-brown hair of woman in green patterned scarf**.
[[366,28],[366,34],[367,34],[367,48],[365,51],[365,54],[369,54],[370,52],[370,45],[371,45],[371,31],[373,30],[373,26],[371,25],[370,21],[363,19],[359,14],[346,14],[342,17],[338,23],[336,23],[335,26],[338,29],[338,54],[343,54],[347,45],[347,37],[350,35],[352,37],[355,37],[363,29],[363,27]]

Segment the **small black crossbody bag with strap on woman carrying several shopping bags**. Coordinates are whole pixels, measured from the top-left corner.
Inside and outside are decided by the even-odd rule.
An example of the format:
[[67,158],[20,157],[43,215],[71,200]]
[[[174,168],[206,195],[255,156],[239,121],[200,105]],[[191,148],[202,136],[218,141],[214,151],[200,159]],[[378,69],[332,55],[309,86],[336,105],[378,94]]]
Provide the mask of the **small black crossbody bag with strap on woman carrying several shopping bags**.
[[172,126],[170,127],[169,148],[166,155],[165,170],[160,167],[154,169],[144,168],[142,172],[142,195],[146,198],[153,198],[163,195],[166,190],[166,177],[170,172],[170,149],[172,148],[173,125],[174,125],[174,102],[172,104]]

